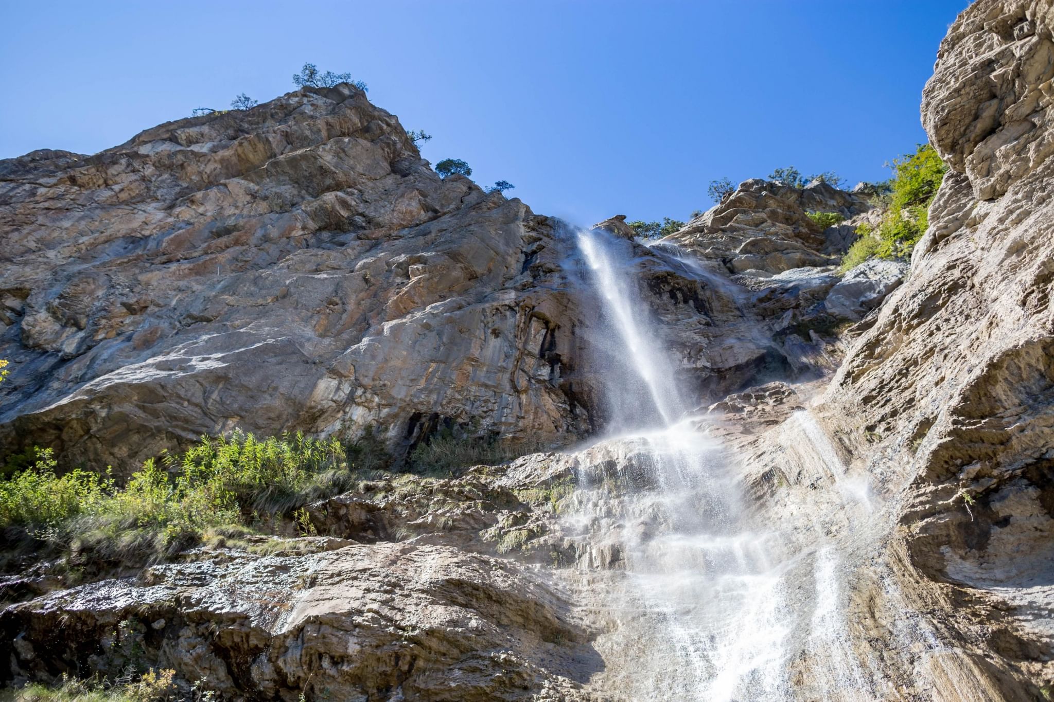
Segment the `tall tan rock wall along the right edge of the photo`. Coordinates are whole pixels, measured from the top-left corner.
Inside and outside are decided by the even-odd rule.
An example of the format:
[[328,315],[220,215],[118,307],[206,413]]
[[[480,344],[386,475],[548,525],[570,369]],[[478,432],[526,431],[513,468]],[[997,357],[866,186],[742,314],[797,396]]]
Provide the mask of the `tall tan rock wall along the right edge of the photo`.
[[939,641],[915,662],[933,699],[1054,686],[1052,80],[1048,0],[978,0],[952,25],[922,103],[951,171],[826,395],[895,505],[885,562]]

